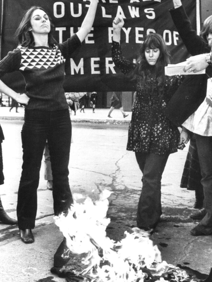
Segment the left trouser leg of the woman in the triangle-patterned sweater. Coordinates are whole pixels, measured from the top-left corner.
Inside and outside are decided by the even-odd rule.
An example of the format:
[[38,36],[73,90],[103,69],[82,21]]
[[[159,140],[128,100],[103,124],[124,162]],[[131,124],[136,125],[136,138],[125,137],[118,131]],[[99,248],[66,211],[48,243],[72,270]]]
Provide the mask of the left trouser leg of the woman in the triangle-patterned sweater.
[[25,110],[21,131],[23,165],[18,189],[17,217],[19,229],[32,229],[37,212],[37,188],[44,146],[47,139],[46,116]]

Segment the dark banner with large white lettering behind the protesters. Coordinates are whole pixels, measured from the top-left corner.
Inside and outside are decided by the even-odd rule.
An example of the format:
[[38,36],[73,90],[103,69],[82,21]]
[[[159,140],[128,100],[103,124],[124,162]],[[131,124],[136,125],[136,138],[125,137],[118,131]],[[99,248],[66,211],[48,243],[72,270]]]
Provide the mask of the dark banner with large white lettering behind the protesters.
[[[1,59],[16,48],[14,33],[23,13],[31,6],[42,6],[55,25],[55,39],[65,41],[77,32],[90,1],[82,0],[2,0]],[[196,29],[196,0],[184,0],[183,6]],[[187,51],[174,26],[169,9],[172,0],[99,0],[93,28],[81,48],[66,61],[66,92],[133,91],[130,81],[114,67],[111,41],[114,17],[124,18],[121,31],[123,55],[136,60],[143,38],[150,32],[163,36],[172,55],[172,63],[187,58]],[[5,75],[3,81],[18,92],[24,91],[19,72]]]

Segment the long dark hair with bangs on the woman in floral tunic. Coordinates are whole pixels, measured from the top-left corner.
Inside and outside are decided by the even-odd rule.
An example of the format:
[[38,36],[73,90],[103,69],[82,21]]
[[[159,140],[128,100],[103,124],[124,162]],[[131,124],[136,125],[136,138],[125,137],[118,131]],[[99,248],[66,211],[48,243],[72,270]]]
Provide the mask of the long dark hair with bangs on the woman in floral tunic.
[[[159,49],[160,54],[154,66],[146,61],[146,49]],[[170,54],[166,47],[163,37],[157,33],[148,34],[144,38],[144,43],[139,50],[139,58],[136,61],[136,67],[131,72],[130,78],[139,81],[141,89],[145,87],[150,78],[153,78],[157,86],[163,85],[165,81],[164,67],[170,63]]]

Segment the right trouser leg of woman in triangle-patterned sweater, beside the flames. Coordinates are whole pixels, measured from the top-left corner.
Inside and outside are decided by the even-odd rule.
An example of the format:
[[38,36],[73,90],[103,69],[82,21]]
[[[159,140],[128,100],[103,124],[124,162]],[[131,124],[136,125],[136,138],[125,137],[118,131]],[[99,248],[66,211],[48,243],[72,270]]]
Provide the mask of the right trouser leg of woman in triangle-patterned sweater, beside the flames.
[[53,177],[54,213],[66,213],[73,204],[68,180],[71,145],[71,120],[68,110],[55,111],[47,137]]

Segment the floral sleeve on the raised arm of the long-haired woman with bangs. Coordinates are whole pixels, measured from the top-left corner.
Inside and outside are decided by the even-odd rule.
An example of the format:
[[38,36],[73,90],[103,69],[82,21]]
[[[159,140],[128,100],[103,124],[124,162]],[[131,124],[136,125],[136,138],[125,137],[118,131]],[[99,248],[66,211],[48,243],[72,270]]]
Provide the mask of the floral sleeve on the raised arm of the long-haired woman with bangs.
[[112,59],[116,67],[123,74],[128,74],[135,68],[135,63],[127,60],[122,56],[122,49],[118,42],[112,41]]

